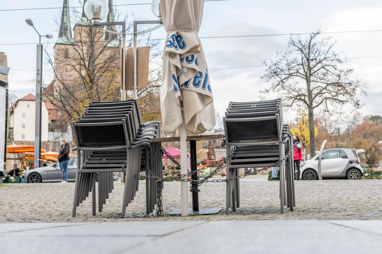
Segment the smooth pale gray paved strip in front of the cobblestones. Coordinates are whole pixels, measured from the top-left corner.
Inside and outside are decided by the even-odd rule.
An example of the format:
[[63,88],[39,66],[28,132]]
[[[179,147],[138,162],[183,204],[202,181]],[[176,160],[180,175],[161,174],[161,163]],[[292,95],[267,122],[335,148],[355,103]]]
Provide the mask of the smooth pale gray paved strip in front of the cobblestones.
[[7,223],[1,253],[380,253],[382,221]]

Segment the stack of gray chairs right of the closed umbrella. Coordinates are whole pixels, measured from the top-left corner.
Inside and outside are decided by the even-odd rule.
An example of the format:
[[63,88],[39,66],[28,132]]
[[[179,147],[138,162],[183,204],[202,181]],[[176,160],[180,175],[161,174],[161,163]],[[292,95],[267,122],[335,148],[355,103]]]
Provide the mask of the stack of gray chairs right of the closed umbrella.
[[[240,168],[267,167],[280,161],[291,147],[291,132],[283,125],[280,99],[255,102],[230,102],[225,117],[225,145],[227,178],[237,177]],[[291,211],[295,206],[293,151],[286,161],[275,164],[280,167],[280,210],[286,204]],[[286,171],[285,171],[286,168]],[[227,182],[226,213],[230,207],[240,207],[239,178]]]

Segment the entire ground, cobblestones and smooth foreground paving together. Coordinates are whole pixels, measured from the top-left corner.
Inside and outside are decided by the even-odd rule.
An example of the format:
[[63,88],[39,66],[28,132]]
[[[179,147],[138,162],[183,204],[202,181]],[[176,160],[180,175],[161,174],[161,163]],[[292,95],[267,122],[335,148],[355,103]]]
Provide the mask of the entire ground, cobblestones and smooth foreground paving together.
[[[121,183],[103,212],[91,215],[87,199],[75,218],[74,183],[3,184],[0,253],[380,253],[382,181],[296,181],[297,207],[280,214],[279,182],[263,178],[241,180],[241,207],[229,215],[225,183],[204,183],[200,207],[222,213],[168,216],[180,207],[180,182],[165,183],[166,216],[145,219],[106,218],[121,211]],[[141,181],[128,214],[145,212],[144,187]]]

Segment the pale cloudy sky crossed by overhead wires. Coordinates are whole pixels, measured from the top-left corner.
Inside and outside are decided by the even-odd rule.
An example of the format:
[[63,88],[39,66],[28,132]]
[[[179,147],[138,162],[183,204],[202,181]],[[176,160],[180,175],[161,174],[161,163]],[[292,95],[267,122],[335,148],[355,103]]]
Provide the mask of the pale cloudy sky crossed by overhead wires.
[[[151,0],[114,0],[115,5],[149,3]],[[63,0],[2,0],[1,10],[19,8],[62,7]],[[70,6],[80,6],[78,0],[70,0]],[[121,14],[131,14],[141,19],[155,19],[150,5],[118,6]],[[80,9],[79,9],[80,10]],[[31,18],[40,34],[53,34],[47,45],[52,53],[58,37],[54,22],[60,18],[61,9],[0,11],[0,44],[38,43],[38,35],[25,22]],[[381,115],[382,98],[382,32],[352,32],[382,30],[382,3],[377,0],[290,0],[254,1],[227,0],[206,2],[200,37],[231,35],[269,35],[285,33],[309,33],[320,29],[338,40],[334,50],[345,53],[351,59],[347,67],[354,69],[354,76],[367,81],[368,97],[361,96],[365,104],[361,113]],[[75,23],[76,20],[71,20]],[[72,24],[73,29],[73,24]],[[156,38],[165,38],[160,27],[153,32]],[[326,36],[326,35],[325,35]],[[276,51],[284,51],[288,36],[236,37],[201,39],[215,108],[223,114],[229,101],[253,101],[259,99],[259,90],[267,87],[260,77],[264,67],[232,68],[260,65],[264,59],[276,59]],[[42,38],[47,42],[47,38]],[[164,43],[164,42],[163,42]],[[46,45],[44,45],[45,47]],[[8,57],[9,90],[18,97],[35,93],[36,45],[0,45]],[[231,69],[219,69],[231,68]],[[49,83],[53,74],[49,64],[44,65],[44,80]],[[277,95],[267,95],[275,98]],[[293,118],[290,114],[289,118]],[[292,119],[289,119],[292,120]]]

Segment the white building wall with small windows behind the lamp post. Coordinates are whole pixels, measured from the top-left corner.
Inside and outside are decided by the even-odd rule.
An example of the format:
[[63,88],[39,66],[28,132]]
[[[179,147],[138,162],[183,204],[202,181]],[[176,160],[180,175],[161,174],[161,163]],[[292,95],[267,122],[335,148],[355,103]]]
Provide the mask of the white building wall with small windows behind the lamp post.
[[[49,111],[42,103],[41,110],[41,141],[48,141]],[[34,141],[36,122],[36,101],[18,101],[12,114],[13,137],[15,141]]]

